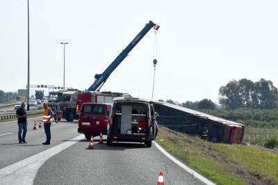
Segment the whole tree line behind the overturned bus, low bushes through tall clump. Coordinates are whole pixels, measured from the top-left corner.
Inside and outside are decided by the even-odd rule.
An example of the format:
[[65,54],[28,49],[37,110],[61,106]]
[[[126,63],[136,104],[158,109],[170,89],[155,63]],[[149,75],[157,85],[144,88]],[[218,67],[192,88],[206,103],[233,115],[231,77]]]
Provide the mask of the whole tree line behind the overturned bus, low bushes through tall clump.
[[[211,99],[202,99],[196,102],[174,102],[167,99],[166,102],[177,104],[191,109],[272,109],[278,108],[278,90],[272,81],[260,79],[251,81],[249,79],[240,79],[238,81],[229,81],[225,86],[219,89],[219,104],[215,104]],[[160,99],[159,101],[163,101]]]

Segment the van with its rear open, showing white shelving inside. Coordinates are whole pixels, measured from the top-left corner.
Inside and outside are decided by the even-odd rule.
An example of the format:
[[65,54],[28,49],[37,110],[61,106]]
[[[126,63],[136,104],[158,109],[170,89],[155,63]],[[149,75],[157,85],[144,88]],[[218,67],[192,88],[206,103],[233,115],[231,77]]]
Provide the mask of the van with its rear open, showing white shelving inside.
[[107,126],[107,145],[113,141],[131,141],[152,147],[158,132],[156,115],[154,105],[147,99],[114,98]]

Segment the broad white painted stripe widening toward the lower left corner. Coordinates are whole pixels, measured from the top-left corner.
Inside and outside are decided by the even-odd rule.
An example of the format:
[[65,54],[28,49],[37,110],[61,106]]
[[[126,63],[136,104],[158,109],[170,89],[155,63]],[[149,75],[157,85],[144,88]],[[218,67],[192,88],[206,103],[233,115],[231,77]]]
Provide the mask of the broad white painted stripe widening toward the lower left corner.
[[40,166],[45,161],[84,138],[83,134],[76,136],[60,145],[56,145],[55,147],[51,147],[48,150],[44,150],[43,152],[0,169],[0,184],[33,184]]

